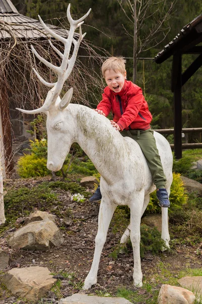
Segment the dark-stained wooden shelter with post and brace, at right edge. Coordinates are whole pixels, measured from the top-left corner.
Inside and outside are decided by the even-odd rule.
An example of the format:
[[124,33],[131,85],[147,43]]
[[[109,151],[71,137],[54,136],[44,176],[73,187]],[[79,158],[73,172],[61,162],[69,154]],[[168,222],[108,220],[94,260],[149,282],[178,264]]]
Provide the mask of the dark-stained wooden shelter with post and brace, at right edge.
[[[177,159],[182,157],[181,90],[182,86],[202,65],[202,45],[199,45],[201,42],[202,14],[185,25],[154,59],[156,63],[162,63],[170,56],[173,56],[171,90],[174,93],[174,151]],[[199,54],[199,56],[182,73],[183,54]]]

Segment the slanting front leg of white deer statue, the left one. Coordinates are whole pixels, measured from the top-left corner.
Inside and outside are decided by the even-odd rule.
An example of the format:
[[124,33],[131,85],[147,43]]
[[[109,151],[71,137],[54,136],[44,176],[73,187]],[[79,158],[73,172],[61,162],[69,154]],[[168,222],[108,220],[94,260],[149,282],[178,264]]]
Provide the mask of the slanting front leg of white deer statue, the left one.
[[89,289],[92,285],[97,283],[97,271],[100,256],[103,250],[103,246],[106,242],[108,228],[116,209],[117,205],[109,202],[108,200],[102,198],[99,207],[99,215],[98,215],[98,231],[95,238],[95,250],[92,261],[92,266],[90,272],[88,273],[83,289]]

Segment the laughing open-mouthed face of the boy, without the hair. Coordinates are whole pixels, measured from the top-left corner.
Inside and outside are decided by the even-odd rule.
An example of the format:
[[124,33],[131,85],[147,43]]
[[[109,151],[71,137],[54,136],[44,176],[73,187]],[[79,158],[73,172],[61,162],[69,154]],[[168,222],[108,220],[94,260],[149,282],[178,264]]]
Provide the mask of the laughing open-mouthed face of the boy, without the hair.
[[108,87],[114,91],[115,93],[119,93],[123,86],[126,79],[126,71],[122,74],[119,71],[115,71],[113,69],[108,69],[105,71],[105,81]]

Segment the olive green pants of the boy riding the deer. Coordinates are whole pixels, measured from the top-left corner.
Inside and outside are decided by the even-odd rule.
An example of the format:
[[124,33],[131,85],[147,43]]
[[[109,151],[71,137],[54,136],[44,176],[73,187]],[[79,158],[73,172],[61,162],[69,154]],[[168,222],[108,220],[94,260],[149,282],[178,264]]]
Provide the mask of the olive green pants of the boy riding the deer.
[[161,158],[157,149],[154,131],[148,130],[129,130],[121,131],[122,136],[129,136],[139,144],[143,155],[146,158],[148,167],[151,171],[154,183],[159,188],[166,187],[166,176],[162,167]]

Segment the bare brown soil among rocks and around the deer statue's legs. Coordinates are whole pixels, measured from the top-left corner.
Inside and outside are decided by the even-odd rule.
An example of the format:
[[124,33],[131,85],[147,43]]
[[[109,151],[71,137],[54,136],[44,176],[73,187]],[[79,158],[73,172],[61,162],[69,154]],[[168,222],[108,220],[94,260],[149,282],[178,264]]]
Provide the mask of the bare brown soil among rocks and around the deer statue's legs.
[[[7,181],[7,184],[16,188],[31,187],[44,180],[44,178],[10,180]],[[45,252],[11,249],[7,244],[6,237],[15,230],[15,226],[12,226],[0,237],[0,247],[10,256],[7,270],[40,265],[41,267],[47,267],[54,275],[66,274],[64,278],[61,277],[60,279],[61,288],[57,292],[50,291],[46,295],[44,300],[50,303],[57,302],[60,297],[67,297],[81,291],[82,282],[84,282],[92,263],[99,210],[99,203],[90,203],[88,200],[83,203],[72,202],[70,193],[62,189],[54,189],[54,192],[59,195],[60,201],[63,202],[63,207],[60,210],[61,216],[57,217],[56,222],[64,236],[64,245],[61,248],[51,248]],[[64,214],[67,215],[67,208],[70,208],[71,212],[69,212],[68,217],[64,217]],[[21,224],[23,224],[22,220]],[[172,226],[170,226],[170,230],[172,231]],[[123,231],[114,232],[113,225],[110,226],[99,263],[97,284],[92,286],[87,293],[99,295],[110,293],[113,296],[116,295],[118,288],[121,286],[130,290],[137,290],[132,285],[133,254],[130,246],[128,246],[128,253],[119,254],[116,260],[109,256],[113,247],[120,242],[122,233]],[[155,291],[154,289],[159,290],[162,284],[166,284],[167,275],[162,272],[162,264],[164,269],[176,278],[179,272],[186,270],[186,268],[200,268],[202,257],[197,250],[198,246],[198,244],[182,245],[171,234],[171,250],[169,252],[165,251],[158,256],[153,256],[148,252],[141,261],[144,283],[153,284],[155,281],[156,287],[151,292],[142,288],[138,292],[147,293],[149,298]],[[68,274],[70,275],[69,278]],[[0,276],[0,280],[2,280],[2,276]],[[25,303],[25,301],[3,289],[4,287],[0,287],[0,304]]]

